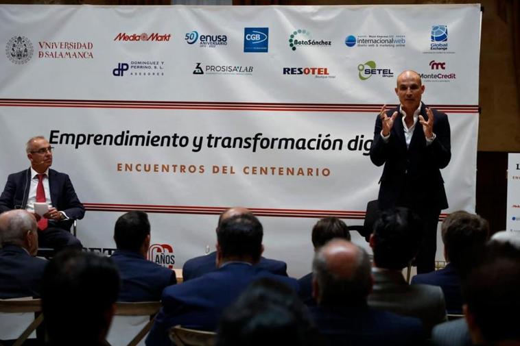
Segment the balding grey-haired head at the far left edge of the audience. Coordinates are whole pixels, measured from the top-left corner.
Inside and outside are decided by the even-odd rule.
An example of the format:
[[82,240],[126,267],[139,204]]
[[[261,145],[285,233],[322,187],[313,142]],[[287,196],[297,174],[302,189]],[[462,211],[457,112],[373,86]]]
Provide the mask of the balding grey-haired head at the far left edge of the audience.
[[2,247],[16,245],[31,255],[38,251],[38,225],[34,216],[25,210],[9,210],[0,214],[0,242]]

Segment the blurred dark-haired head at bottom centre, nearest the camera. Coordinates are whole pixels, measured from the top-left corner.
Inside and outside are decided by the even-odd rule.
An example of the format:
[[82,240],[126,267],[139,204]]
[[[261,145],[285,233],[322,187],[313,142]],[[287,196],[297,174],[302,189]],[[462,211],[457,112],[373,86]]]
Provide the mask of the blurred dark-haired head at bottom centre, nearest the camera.
[[269,278],[253,282],[226,308],[217,346],[319,346],[318,331],[298,295]]

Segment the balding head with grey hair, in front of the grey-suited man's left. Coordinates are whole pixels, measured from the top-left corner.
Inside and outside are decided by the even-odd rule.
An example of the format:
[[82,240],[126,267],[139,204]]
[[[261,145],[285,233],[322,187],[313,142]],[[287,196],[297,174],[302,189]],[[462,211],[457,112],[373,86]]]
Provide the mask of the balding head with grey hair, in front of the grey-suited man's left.
[[342,239],[331,240],[318,250],[313,273],[318,305],[364,304],[373,284],[364,249]]

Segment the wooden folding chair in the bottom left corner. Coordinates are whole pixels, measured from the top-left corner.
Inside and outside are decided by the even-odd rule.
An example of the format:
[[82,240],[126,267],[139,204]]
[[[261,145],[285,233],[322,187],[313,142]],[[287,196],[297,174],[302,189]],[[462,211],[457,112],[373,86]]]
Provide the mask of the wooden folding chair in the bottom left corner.
[[[22,332],[19,338],[16,339],[12,346],[21,346],[29,337],[29,335],[38,328],[43,322],[43,314],[41,313],[41,299],[32,298],[16,298],[16,299],[0,299],[0,312],[5,313],[22,313],[22,312],[34,312],[36,318],[32,321],[27,328]],[[0,346],[3,346],[0,343]]]

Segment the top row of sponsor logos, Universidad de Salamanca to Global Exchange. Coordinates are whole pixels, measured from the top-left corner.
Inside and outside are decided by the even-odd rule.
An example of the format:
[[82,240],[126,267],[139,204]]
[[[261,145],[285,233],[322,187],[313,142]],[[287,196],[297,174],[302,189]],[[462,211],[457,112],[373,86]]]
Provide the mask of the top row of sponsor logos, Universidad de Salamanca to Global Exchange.
[[[199,48],[219,49],[227,47],[228,35],[225,33],[206,33],[193,30],[183,37],[187,45]],[[174,35],[171,33],[127,33],[115,34],[116,42],[171,42]],[[430,47],[423,53],[453,53],[448,47],[447,25],[434,25],[429,36]],[[327,49],[334,42],[329,38],[316,37],[307,29],[295,29],[289,33],[287,47],[292,51],[318,48]],[[341,43],[346,49],[355,48],[402,48],[406,46],[405,35],[399,34],[349,34]],[[244,53],[268,53],[269,28],[244,27]],[[93,59],[94,44],[91,41],[40,41],[33,45],[25,36],[14,36],[5,45],[5,54],[14,64],[25,64],[33,58],[38,59]]]

